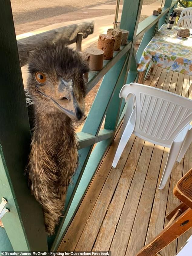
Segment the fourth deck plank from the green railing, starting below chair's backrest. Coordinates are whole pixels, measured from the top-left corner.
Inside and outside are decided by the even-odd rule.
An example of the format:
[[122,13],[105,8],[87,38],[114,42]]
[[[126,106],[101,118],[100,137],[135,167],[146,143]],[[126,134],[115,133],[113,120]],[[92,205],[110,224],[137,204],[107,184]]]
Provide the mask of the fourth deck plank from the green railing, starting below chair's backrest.
[[[147,175],[153,146],[154,145],[148,141],[145,141],[144,143],[137,169],[121,213],[121,218],[114,234],[114,239],[111,243],[110,251],[112,252],[112,255],[124,255],[126,252],[128,242],[127,238],[131,233],[144,181]],[[127,218],[127,216],[129,217]]]

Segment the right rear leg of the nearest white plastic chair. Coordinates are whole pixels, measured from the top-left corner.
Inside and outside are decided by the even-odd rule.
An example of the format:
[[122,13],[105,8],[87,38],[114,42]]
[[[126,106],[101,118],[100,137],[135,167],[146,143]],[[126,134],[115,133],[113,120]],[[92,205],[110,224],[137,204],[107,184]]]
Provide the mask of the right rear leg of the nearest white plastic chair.
[[173,169],[173,166],[177,160],[177,156],[179,155],[180,152],[180,148],[181,148],[182,143],[181,142],[173,142],[171,147],[170,147],[170,151],[169,151],[169,155],[167,158],[167,163],[165,165],[165,169],[159,184],[159,189],[164,189],[165,184],[169,178],[169,175]]

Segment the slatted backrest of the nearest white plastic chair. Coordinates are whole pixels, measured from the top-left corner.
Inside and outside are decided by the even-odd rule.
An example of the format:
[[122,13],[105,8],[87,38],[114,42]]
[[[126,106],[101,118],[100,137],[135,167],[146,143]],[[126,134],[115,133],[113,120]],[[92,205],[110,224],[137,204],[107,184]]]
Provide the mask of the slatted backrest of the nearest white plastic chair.
[[192,100],[147,85],[124,85],[119,94],[134,95],[134,131],[142,138],[170,146],[179,132],[192,120]]

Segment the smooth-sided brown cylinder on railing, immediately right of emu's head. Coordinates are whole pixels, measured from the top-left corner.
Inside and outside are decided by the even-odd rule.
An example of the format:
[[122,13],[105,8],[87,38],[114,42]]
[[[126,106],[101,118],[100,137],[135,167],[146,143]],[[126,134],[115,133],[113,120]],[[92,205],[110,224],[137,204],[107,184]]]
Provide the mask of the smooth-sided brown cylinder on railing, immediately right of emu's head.
[[85,52],[90,55],[89,68],[93,71],[101,70],[103,68],[104,51],[90,47]]

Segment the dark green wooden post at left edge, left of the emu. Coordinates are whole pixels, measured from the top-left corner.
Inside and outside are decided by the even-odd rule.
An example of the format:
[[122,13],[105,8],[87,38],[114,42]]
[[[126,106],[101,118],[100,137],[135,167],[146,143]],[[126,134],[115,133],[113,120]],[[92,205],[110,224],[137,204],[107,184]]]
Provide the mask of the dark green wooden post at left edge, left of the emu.
[[47,250],[42,209],[23,175],[31,135],[9,0],[0,2],[0,56],[0,198],[10,210],[1,239],[6,250]]

